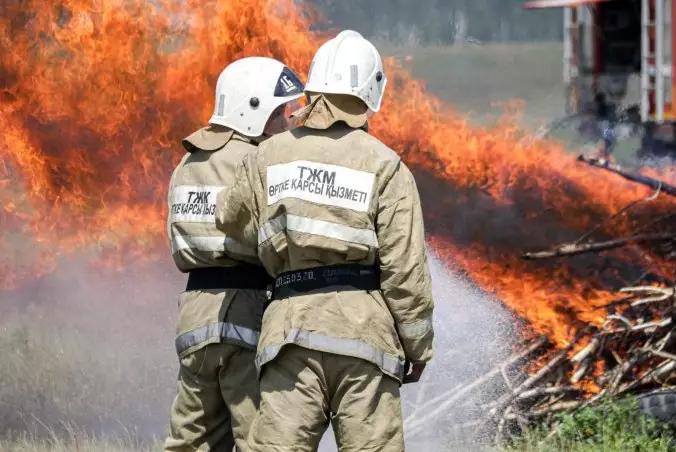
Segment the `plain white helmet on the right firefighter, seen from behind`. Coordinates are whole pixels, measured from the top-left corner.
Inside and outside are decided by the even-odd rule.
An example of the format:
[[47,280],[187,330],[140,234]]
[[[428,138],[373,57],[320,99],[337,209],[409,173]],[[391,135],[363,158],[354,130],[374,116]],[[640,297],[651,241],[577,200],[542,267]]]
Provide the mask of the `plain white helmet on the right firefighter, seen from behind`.
[[305,91],[356,96],[376,112],[386,84],[383,60],[375,46],[356,31],[345,30],[315,54]]

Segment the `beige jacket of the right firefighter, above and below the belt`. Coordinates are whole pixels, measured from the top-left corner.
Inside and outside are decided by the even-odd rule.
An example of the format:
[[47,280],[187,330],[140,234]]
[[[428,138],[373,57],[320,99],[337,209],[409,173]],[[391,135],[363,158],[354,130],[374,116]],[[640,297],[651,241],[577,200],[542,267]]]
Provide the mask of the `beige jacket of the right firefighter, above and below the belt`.
[[[354,117],[346,121],[335,104],[315,98],[301,115],[305,127],[250,153],[233,189],[218,196],[216,222],[233,238],[258,245],[273,276],[325,265],[380,264],[380,291],[329,288],[271,303],[258,345],[259,372],[282,346],[296,344],[368,360],[401,381],[405,358],[432,358],[433,302],[420,199],[399,156],[354,128],[365,125],[365,116],[361,124]],[[257,242],[240,232],[252,225]]]

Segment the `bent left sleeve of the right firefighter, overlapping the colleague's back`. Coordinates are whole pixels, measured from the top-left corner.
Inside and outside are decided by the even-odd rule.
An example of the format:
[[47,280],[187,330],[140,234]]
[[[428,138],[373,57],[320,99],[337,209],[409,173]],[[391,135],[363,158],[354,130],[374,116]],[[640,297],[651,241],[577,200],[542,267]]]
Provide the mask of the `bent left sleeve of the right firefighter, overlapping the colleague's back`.
[[255,249],[258,247],[258,212],[253,190],[254,153],[242,160],[233,185],[218,193],[216,227],[226,236]]

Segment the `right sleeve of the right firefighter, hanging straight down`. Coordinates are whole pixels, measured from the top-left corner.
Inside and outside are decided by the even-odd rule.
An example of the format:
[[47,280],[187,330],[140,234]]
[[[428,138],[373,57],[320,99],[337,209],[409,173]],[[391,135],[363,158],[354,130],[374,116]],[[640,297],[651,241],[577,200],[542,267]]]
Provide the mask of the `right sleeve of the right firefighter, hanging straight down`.
[[432,284],[420,195],[409,169],[399,162],[380,194],[376,232],[380,279],[406,359],[432,359]]

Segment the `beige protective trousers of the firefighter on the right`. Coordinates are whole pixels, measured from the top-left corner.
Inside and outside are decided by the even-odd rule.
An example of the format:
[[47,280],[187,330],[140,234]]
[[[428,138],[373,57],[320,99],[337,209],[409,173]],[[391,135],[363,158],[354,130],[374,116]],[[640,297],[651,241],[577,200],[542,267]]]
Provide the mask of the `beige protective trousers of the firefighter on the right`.
[[399,383],[368,361],[287,345],[263,367],[251,452],[314,452],[329,422],[340,452],[402,452]]

